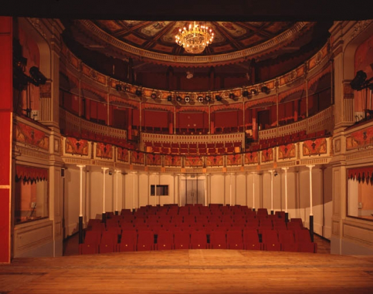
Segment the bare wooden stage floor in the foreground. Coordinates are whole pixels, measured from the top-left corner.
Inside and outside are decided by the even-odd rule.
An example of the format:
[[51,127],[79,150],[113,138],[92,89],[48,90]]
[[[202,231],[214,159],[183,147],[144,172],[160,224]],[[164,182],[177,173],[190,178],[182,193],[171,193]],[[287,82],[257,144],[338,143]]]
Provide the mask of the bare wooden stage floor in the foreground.
[[373,293],[373,257],[170,250],[17,258],[0,293]]

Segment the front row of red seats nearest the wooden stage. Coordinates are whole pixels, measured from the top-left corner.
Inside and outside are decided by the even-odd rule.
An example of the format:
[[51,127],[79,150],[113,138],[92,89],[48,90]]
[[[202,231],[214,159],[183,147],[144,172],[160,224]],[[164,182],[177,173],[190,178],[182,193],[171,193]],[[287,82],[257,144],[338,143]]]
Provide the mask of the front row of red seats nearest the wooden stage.
[[[118,241],[119,240],[119,241]],[[174,250],[174,249],[237,249],[281,250],[290,252],[317,252],[317,244],[311,242],[308,230],[124,230],[120,238],[114,232],[87,231],[80,254],[107,252]]]

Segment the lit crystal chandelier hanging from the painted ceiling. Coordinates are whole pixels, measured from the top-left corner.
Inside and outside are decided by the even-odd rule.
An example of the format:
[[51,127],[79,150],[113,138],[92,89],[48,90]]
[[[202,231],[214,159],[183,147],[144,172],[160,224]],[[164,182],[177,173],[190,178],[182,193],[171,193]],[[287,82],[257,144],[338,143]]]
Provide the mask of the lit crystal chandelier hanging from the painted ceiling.
[[188,28],[179,29],[175,36],[176,44],[183,46],[186,52],[191,54],[202,53],[205,48],[212,43],[214,33],[207,26],[199,26],[194,21]]

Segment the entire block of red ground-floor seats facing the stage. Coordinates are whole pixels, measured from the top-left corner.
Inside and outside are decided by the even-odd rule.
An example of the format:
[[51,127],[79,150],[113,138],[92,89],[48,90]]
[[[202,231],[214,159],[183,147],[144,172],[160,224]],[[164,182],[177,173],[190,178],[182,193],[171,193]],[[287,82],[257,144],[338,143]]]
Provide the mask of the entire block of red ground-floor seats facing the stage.
[[175,249],[317,252],[301,219],[246,206],[147,206],[90,219],[80,254]]

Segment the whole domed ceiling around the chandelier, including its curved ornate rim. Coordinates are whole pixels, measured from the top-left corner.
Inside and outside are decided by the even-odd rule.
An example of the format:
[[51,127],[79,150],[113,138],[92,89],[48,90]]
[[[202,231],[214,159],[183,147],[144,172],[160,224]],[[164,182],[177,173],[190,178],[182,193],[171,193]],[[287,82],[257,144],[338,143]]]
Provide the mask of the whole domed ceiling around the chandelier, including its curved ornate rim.
[[[176,44],[179,28],[191,21],[75,20],[65,22],[72,39],[116,58],[131,57],[170,66],[217,66],[298,51],[315,35],[316,22],[206,21],[215,33],[203,53],[191,55]],[[325,28],[324,28],[325,33]]]

